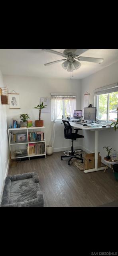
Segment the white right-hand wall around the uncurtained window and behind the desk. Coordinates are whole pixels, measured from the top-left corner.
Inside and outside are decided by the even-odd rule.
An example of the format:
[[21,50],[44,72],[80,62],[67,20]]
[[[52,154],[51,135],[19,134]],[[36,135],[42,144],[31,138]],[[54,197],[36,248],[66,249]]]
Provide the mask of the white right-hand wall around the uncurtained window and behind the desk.
[[[90,93],[89,103],[93,105],[94,89],[118,82],[118,62],[94,73],[81,82],[81,108],[83,110],[83,95],[86,91]],[[106,156],[106,151],[103,150],[103,146],[112,146],[118,152],[118,130],[114,132],[113,129],[111,129],[111,131],[108,129],[99,132],[99,151],[102,158]],[[84,132],[83,148],[94,152],[94,132]]]

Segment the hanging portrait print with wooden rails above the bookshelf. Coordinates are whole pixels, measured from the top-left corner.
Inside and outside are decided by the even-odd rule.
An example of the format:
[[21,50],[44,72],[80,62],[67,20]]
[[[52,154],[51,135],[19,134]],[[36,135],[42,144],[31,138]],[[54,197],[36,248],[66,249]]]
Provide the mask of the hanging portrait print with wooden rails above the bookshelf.
[[9,93],[9,103],[11,109],[20,108],[19,93]]

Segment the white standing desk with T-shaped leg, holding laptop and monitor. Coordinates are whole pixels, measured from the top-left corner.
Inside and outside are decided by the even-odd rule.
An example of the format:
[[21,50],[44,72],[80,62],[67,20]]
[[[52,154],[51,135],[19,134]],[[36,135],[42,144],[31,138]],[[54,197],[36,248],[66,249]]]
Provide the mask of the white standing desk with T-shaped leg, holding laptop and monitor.
[[[104,170],[106,168],[106,166],[103,166],[103,167],[98,167],[98,138],[99,138],[99,132],[100,131],[103,131],[103,130],[106,130],[106,129],[110,129],[110,127],[98,127],[98,126],[83,126],[81,124],[77,124],[76,122],[70,122],[71,126],[72,127],[75,127],[75,128],[79,128],[79,129],[82,129],[82,130],[89,130],[89,131],[94,131],[94,160],[95,160],[95,166],[93,169],[88,169],[88,170],[85,170],[84,172],[87,173],[87,172],[96,172],[96,171],[100,171],[100,170]],[[113,128],[113,127],[111,127]]]

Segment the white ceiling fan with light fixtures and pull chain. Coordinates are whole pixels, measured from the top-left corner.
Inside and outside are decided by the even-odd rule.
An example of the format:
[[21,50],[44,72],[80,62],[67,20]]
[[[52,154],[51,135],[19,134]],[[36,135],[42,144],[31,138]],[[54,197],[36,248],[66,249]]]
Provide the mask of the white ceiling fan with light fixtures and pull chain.
[[42,49],[42,51],[51,52],[53,54],[57,54],[60,56],[65,57],[65,59],[62,60],[56,60],[53,62],[45,63],[45,66],[55,64],[57,62],[64,61],[61,66],[64,69],[67,69],[68,72],[73,72],[73,70],[80,68],[81,63],[79,61],[88,61],[88,62],[94,62],[94,63],[102,63],[104,59],[102,58],[92,58],[92,57],[83,57],[80,56],[83,52],[86,52],[88,49],[65,49],[63,53],[57,52],[55,50],[51,49]]

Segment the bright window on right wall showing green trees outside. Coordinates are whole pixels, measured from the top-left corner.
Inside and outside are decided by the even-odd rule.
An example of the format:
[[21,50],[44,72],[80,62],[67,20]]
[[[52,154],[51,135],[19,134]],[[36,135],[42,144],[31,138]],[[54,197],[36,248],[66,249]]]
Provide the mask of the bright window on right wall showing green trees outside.
[[[111,88],[110,88],[111,87]],[[118,112],[118,84],[106,86],[95,90],[95,104],[97,109],[97,119],[103,122],[117,120]]]

